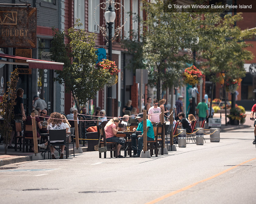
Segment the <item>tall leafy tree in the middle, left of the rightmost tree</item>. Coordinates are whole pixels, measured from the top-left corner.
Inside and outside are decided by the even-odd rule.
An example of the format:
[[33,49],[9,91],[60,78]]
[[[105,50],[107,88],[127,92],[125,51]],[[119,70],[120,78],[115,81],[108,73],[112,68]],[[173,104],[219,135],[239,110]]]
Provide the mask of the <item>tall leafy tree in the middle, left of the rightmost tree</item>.
[[192,58],[183,49],[193,47],[197,40],[201,16],[189,12],[163,12],[163,1],[144,2],[147,20],[144,22],[144,60],[150,70],[149,83],[157,87],[178,85],[182,71]]

